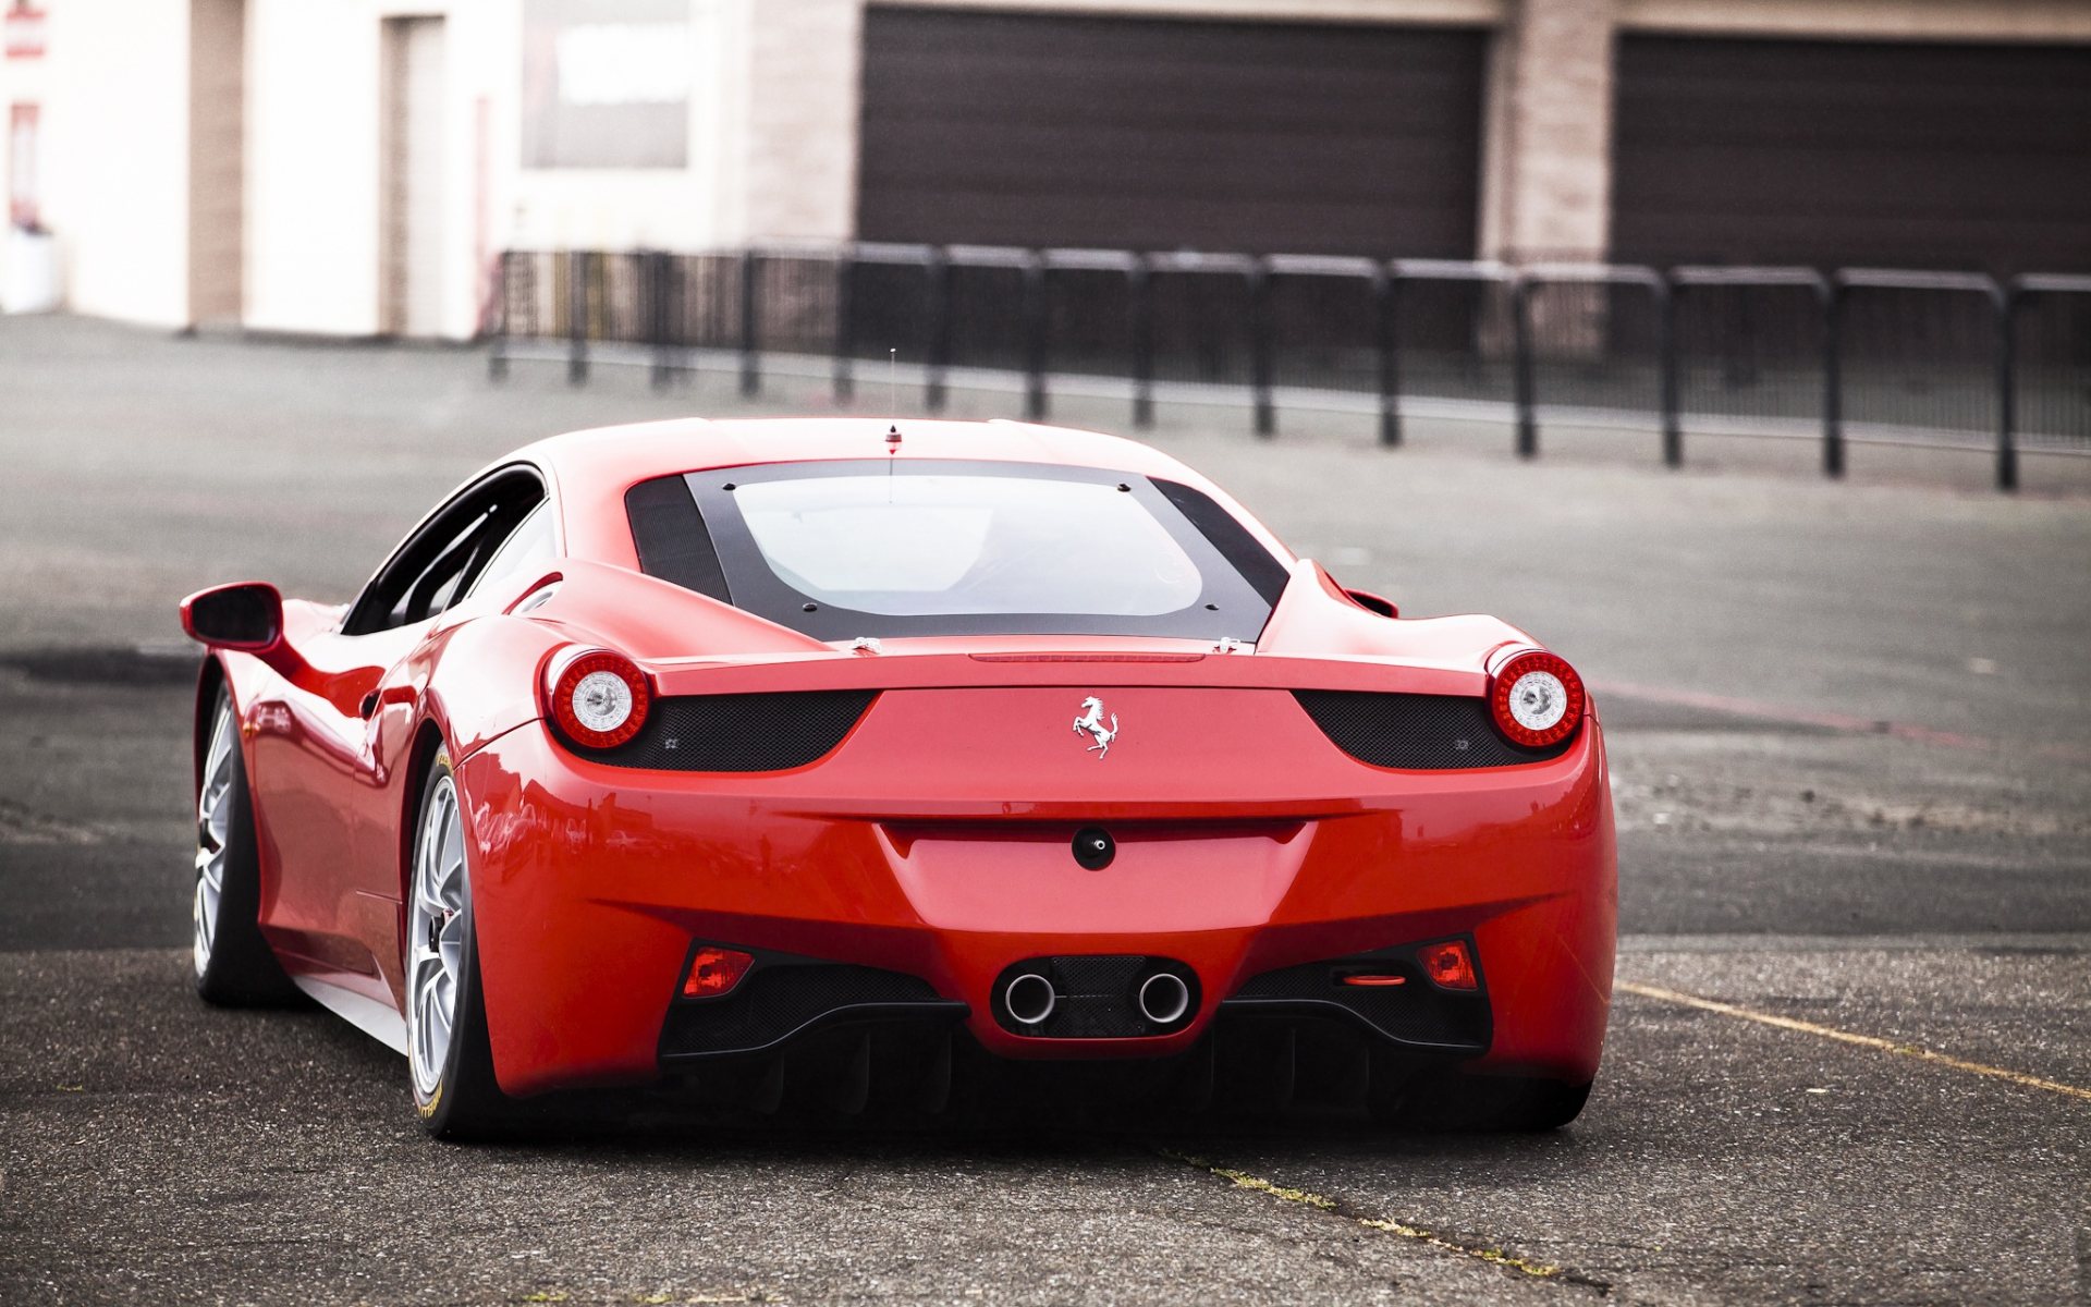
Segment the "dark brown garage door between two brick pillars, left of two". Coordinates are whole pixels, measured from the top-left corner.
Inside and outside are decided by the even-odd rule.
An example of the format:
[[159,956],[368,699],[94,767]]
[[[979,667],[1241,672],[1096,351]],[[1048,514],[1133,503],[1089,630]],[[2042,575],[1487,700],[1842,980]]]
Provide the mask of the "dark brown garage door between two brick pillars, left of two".
[[1485,33],[870,8],[866,240],[1468,257]]

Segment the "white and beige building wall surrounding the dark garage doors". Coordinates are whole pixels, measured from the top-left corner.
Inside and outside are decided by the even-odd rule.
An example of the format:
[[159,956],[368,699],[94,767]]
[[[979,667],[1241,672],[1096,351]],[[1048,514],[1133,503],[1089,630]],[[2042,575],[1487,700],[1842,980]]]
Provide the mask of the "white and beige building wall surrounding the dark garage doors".
[[[489,261],[502,249],[723,249],[855,234],[866,0],[688,0],[688,163],[627,171],[523,167],[521,0],[226,2],[245,4],[236,169],[245,194],[232,280],[247,326],[330,335],[383,326],[387,17],[445,23],[441,335],[477,330]],[[1480,253],[1501,257],[1604,255],[1621,31],[2091,42],[2091,0],[937,2],[1493,27],[1476,236]],[[52,0],[46,8],[48,56],[0,63],[0,105],[40,105],[42,209],[63,251],[69,307],[184,326],[199,312],[190,215],[211,209],[190,203],[192,4]],[[6,148],[0,134],[0,169]],[[211,316],[224,312],[217,284],[220,303],[203,305]]]

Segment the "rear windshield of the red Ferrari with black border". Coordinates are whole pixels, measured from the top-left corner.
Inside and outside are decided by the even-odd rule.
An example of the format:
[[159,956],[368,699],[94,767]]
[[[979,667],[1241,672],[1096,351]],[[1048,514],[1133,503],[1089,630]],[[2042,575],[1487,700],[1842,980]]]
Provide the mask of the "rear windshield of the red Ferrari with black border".
[[[723,586],[717,598],[820,640],[1253,640],[1286,575],[1209,498],[1125,473],[847,460],[692,473],[684,483],[686,514],[648,512],[642,523],[634,512],[642,567],[709,542],[717,571],[707,575],[717,581],[705,590]],[[1211,512],[1188,510],[1184,496]],[[1215,531],[1213,519],[1225,525]]]

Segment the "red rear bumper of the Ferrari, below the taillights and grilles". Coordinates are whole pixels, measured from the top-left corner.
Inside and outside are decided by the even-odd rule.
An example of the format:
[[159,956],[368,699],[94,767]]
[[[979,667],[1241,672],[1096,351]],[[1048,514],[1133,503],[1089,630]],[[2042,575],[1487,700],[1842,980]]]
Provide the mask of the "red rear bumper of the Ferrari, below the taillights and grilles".
[[[999,1058],[1165,1058],[1253,1016],[1340,1021],[1487,1071],[1595,1075],[1616,920],[1595,717],[1562,757],[1489,772],[1248,753],[1188,780],[1098,767],[1025,788],[991,759],[884,776],[843,765],[847,747],[790,774],[634,772],[571,755],[542,724],[512,730],[460,770],[496,1075],[510,1094],[644,1083],[897,1018],[962,1027]],[[1071,853],[1087,826],[1117,841],[1102,870]],[[1359,1018],[1334,981],[1294,970],[1449,937],[1476,951],[1478,1025]],[[680,1000],[698,941],[899,983],[715,1021],[705,1004],[726,1012],[732,995]],[[997,1021],[1012,964],[1058,958],[1167,962],[1196,1002],[1161,1033]],[[1424,1016],[1441,998],[1420,977],[1403,993]]]

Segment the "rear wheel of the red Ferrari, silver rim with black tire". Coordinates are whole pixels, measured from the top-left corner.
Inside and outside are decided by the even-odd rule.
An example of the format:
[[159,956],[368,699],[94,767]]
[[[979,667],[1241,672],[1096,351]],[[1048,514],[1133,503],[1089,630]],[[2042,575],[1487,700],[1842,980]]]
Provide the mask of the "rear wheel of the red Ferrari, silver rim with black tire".
[[508,1123],[479,993],[464,809],[450,759],[422,782],[406,908],[406,1044],[414,1106],[429,1133],[483,1138]]

